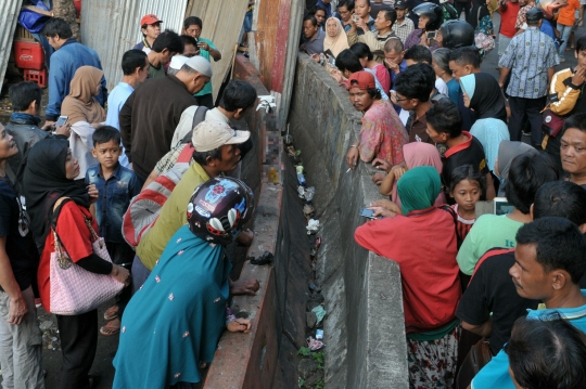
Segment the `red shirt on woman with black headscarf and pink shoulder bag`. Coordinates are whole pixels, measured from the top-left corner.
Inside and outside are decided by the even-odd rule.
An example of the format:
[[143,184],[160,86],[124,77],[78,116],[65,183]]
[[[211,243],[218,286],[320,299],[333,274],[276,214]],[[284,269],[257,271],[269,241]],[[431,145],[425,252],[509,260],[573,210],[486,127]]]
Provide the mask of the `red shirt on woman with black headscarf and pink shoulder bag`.
[[[86,225],[86,220],[90,219],[95,231],[98,224],[92,219],[87,208],[80,207],[74,202],[67,202],[62,208],[56,222],[56,233],[63,248],[72,259],[77,262],[90,256],[93,252],[91,246],[91,233]],[[51,252],[55,250],[53,233],[50,231],[44,241],[44,248],[41,254],[37,281],[39,283],[39,293],[42,307],[47,312],[51,312]]]

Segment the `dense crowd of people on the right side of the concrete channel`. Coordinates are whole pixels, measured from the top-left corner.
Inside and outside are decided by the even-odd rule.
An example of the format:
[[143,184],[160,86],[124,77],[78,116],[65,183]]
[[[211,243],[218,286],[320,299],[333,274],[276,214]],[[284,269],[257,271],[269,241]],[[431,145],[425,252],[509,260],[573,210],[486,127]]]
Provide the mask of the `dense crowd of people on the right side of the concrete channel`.
[[[323,4],[300,50],[362,114],[346,163],[387,198],[354,236],[400,267],[410,387],[585,387],[584,8]],[[498,78],[481,68],[496,44]]]

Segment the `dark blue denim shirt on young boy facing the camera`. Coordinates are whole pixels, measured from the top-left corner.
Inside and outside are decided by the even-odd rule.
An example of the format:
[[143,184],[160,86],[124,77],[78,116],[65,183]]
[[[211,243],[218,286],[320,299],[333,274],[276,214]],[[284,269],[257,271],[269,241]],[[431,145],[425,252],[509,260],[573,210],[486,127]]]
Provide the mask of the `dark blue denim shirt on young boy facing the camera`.
[[86,184],[95,184],[100,193],[94,204],[100,236],[105,242],[124,243],[123,216],[132,197],[140,193],[142,183],[132,170],[118,164],[107,180],[104,180],[100,165],[92,166],[86,171]]

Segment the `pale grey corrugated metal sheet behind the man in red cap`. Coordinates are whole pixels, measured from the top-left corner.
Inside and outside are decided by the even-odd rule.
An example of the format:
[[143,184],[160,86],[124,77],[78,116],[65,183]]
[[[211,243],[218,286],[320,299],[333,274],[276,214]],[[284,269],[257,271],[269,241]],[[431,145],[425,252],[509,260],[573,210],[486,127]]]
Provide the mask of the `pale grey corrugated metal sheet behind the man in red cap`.
[[154,13],[163,21],[162,29],[181,34],[187,3],[188,0],[84,0],[81,42],[100,55],[109,90],[123,77],[124,53],[142,39],[141,17]]

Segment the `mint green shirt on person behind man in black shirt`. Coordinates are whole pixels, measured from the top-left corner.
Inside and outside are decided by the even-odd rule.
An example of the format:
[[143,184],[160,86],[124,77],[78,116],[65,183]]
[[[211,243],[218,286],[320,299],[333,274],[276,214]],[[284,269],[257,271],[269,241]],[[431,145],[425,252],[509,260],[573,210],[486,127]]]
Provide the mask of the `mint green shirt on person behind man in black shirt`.
[[483,215],[476,219],[456,257],[462,273],[472,275],[476,262],[491,248],[515,247],[517,231],[522,226],[522,222],[511,220],[506,215]]

